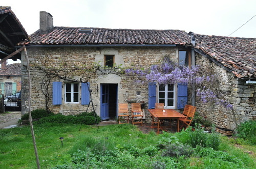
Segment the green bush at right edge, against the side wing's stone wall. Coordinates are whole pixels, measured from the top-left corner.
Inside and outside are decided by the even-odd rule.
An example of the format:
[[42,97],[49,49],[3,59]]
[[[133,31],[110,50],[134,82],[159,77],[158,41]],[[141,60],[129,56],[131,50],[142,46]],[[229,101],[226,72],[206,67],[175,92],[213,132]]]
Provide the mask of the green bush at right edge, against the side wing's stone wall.
[[238,125],[237,136],[256,145],[256,121],[249,120]]

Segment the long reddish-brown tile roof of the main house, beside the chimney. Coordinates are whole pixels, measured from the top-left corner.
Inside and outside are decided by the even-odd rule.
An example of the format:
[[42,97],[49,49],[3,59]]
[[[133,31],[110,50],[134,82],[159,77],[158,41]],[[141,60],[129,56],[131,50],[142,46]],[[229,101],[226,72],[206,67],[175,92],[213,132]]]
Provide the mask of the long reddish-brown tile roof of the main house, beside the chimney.
[[80,27],[54,27],[49,34],[32,34],[28,45],[44,44],[190,44],[187,33],[179,30],[93,29],[91,34],[78,33]]

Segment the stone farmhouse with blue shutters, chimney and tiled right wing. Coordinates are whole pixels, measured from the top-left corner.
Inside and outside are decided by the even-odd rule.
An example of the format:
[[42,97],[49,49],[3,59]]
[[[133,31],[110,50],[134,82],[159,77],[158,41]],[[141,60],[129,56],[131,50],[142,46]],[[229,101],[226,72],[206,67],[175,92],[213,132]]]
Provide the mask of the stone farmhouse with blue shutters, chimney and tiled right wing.
[[[117,116],[118,103],[136,101],[143,103],[145,120],[150,121],[147,108],[159,101],[160,91],[171,93],[164,100],[166,108],[182,111],[180,100],[187,97],[187,102],[197,106],[197,111],[217,127],[234,129],[236,123],[255,118],[256,39],[206,36],[179,30],[57,27],[53,26],[53,18],[47,12],[40,12],[40,29],[30,35],[30,39],[21,44],[26,45],[29,57],[32,109],[48,105],[51,111],[63,115],[86,111],[90,103],[85,83],[88,81],[96,113],[102,120]],[[25,54],[23,51],[23,114],[28,111]],[[165,55],[178,63],[201,65],[205,71],[218,74],[220,89],[233,104],[234,111],[198,102],[194,94],[187,92],[186,86],[134,82],[130,76],[109,69],[97,70],[85,78],[79,70],[79,67],[93,67],[94,63],[106,67],[148,68]],[[89,110],[92,110],[91,105]]]

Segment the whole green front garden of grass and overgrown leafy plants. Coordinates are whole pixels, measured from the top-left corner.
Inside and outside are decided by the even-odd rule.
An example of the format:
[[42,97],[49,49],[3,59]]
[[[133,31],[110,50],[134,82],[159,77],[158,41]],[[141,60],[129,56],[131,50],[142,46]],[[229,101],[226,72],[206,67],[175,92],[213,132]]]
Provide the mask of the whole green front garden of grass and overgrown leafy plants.
[[[254,168],[255,159],[219,142],[218,150],[189,144],[191,130],[143,134],[130,124],[100,127],[35,124],[41,168]],[[197,132],[197,130],[196,130]],[[201,139],[212,133],[201,131]],[[0,168],[35,168],[30,128],[0,130]],[[220,138],[220,135],[218,135]],[[59,137],[63,137],[63,146]],[[203,140],[198,140],[202,143]],[[24,149],[26,147],[26,150]]]

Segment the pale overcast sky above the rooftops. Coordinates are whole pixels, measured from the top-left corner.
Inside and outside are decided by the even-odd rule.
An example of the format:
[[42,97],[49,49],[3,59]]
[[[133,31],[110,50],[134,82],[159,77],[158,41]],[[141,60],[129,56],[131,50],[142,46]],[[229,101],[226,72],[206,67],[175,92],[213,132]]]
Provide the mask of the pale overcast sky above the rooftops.
[[[182,30],[228,36],[256,15],[255,0],[9,0],[30,35],[39,29],[39,12],[53,16],[54,26],[110,29]],[[256,38],[256,16],[231,37]]]

